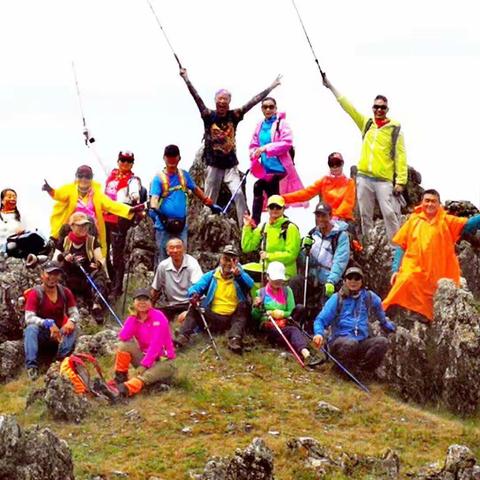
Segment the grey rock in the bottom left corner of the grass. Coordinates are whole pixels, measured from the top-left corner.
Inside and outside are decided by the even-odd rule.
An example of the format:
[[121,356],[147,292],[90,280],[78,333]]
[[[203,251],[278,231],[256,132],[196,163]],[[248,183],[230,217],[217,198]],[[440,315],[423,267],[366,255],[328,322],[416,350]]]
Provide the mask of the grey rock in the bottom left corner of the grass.
[[0,479],[74,480],[72,453],[50,429],[23,430],[15,417],[0,416]]

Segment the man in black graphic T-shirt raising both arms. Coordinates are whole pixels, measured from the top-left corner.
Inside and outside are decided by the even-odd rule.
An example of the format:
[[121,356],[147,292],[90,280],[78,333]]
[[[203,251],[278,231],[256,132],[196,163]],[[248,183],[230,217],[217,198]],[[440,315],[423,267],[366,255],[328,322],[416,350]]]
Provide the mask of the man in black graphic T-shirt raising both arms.
[[257,103],[261,102],[275,87],[280,85],[280,76],[273,83],[255,95],[250,101],[240,108],[230,110],[232,94],[225,89],[218,90],[215,94],[215,110],[205,106],[195,87],[190,82],[185,68],[180,69],[180,76],[185,80],[203,120],[204,125],[204,151],[203,159],[207,165],[205,178],[205,193],[214,202],[218,200],[222,181],[228,185],[232,195],[235,196],[237,219],[240,228],[243,225],[243,215],[247,211],[247,203],[240,186],[240,173],[237,165],[236,131],[237,125],[243,120],[245,114]]

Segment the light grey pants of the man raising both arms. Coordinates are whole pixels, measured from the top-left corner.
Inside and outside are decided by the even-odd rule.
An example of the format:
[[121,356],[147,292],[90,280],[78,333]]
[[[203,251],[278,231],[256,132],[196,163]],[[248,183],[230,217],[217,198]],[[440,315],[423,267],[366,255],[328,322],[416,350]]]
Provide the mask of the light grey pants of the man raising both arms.
[[[213,203],[217,203],[222,181],[227,184],[230,192],[233,195],[242,181],[238,168],[233,167],[224,169],[212,167],[211,165],[207,167],[207,175],[205,177],[205,195],[210,197],[213,200]],[[242,228],[243,215],[247,211],[247,202],[241,188],[238,189],[234,202],[237,209],[238,226]]]

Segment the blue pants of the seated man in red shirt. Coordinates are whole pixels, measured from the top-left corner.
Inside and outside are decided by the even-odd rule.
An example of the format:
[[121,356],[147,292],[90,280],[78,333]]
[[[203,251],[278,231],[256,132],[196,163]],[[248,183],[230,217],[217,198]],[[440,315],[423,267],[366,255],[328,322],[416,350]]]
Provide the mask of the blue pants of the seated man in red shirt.
[[[68,357],[75,348],[77,340],[77,329],[70,334],[64,335],[62,341],[57,346],[57,358],[62,359]],[[50,344],[57,345],[55,340],[50,337],[50,330],[38,325],[28,325],[24,332],[24,347],[25,347],[25,366],[27,368],[37,367],[38,349],[41,346]]]

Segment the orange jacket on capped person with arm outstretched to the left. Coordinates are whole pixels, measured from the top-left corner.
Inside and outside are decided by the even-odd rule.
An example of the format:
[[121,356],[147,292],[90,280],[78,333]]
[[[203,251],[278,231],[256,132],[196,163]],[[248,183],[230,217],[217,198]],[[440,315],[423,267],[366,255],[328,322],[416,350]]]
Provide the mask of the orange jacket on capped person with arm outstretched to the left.
[[282,195],[285,202],[296,203],[310,200],[318,195],[323,201],[332,207],[332,215],[342,220],[353,220],[355,208],[355,181],[345,175],[333,177],[326,175],[312,185],[297,190],[296,192]]

